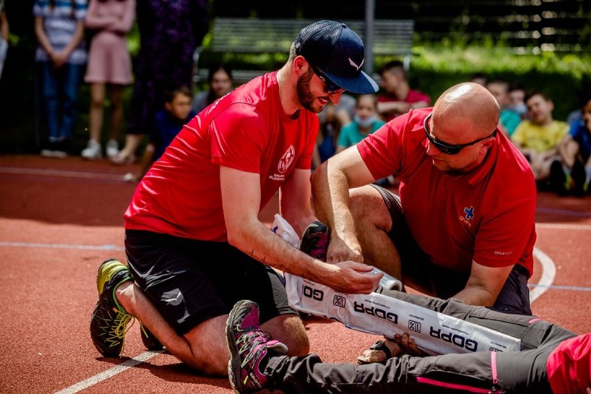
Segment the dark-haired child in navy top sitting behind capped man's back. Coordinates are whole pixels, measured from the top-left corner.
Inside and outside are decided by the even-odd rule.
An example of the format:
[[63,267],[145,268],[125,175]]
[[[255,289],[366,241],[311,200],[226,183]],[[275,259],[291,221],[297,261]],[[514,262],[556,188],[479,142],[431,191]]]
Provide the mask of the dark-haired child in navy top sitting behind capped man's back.
[[153,127],[150,133],[150,142],[144,150],[139,171],[136,174],[126,173],[123,180],[137,182],[146,174],[153,162],[160,159],[162,153],[171,144],[172,140],[182,127],[191,120],[196,113],[191,110],[191,89],[182,86],[173,89],[166,95],[164,109],[156,112]]

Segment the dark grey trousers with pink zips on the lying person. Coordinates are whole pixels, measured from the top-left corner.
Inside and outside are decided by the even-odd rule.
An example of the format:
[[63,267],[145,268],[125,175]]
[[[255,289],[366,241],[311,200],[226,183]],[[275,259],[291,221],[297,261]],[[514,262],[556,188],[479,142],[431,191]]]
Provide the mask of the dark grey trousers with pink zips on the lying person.
[[522,340],[520,352],[474,352],[435,357],[408,354],[386,365],[323,363],[307,357],[273,357],[264,373],[285,393],[551,393],[546,361],[567,329],[534,316],[502,314],[458,300],[384,292],[414,305],[461,318]]

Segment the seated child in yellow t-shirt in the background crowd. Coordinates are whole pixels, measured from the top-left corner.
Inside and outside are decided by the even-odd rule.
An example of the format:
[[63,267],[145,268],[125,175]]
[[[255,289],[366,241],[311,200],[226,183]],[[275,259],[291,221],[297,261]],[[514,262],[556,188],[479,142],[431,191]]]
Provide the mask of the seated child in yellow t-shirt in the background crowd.
[[[529,120],[524,120],[511,135],[511,141],[531,165],[533,176],[542,187],[549,180],[550,188],[565,194],[563,163],[558,144],[568,132],[568,125],[552,118],[554,103],[542,92],[526,95]],[[562,176],[559,176],[560,173]]]

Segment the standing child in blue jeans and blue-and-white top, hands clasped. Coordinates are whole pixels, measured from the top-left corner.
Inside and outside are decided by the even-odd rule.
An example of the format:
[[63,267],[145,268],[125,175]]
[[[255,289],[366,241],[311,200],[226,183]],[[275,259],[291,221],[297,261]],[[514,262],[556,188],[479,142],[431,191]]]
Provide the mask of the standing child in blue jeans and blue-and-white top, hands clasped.
[[44,157],[66,157],[74,131],[78,88],[87,53],[84,42],[86,0],[35,0],[35,35],[39,46],[42,100],[48,139]]

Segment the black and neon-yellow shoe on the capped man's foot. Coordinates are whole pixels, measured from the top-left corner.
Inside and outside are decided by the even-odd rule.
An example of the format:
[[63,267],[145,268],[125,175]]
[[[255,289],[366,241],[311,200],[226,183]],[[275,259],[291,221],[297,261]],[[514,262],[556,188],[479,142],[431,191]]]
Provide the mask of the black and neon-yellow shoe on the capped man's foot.
[[[135,318],[128,314],[115,295],[117,287],[132,280],[127,266],[117,259],[108,259],[99,266],[96,275],[96,289],[99,290],[99,301],[90,316],[90,337],[92,343],[104,357],[117,357],[123,352],[125,334]],[[133,324],[132,324],[133,325]]]

